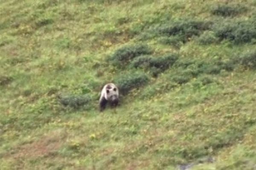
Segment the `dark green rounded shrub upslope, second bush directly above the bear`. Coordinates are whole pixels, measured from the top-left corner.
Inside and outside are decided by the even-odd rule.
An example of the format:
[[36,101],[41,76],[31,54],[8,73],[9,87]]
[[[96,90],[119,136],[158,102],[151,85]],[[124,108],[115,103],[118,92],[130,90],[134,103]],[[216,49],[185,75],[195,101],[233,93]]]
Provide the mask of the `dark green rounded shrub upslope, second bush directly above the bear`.
[[125,65],[131,59],[145,55],[151,54],[151,50],[148,45],[135,44],[135,45],[126,45],[117,49],[114,54],[111,56],[110,60],[115,65]]

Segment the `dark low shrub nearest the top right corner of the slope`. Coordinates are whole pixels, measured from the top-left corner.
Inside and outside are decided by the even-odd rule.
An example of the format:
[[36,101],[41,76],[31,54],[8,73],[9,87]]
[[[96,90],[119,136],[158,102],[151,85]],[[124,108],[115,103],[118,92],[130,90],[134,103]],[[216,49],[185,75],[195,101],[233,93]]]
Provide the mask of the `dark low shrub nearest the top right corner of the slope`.
[[211,10],[211,13],[214,15],[220,15],[222,17],[231,17],[244,11],[246,11],[244,6],[219,4]]

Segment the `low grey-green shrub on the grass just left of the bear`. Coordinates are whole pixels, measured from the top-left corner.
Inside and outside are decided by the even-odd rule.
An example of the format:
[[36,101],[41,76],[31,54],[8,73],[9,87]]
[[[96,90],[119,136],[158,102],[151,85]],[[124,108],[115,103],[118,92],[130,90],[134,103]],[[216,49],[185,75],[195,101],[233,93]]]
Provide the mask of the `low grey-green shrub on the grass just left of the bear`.
[[72,108],[79,108],[87,105],[91,98],[89,95],[67,95],[58,96],[60,103],[64,106],[70,106]]

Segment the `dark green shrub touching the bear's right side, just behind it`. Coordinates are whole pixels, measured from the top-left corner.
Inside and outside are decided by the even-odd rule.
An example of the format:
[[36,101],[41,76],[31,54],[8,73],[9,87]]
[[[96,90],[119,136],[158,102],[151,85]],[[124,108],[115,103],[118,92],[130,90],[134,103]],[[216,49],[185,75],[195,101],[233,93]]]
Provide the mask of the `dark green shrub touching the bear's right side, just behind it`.
[[118,77],[114,82],[119,87],[122,94],[128,94],[134,88],[140,88],[148,83],[149,78],[143,73],[135,73],[125,75],[125,77]]

